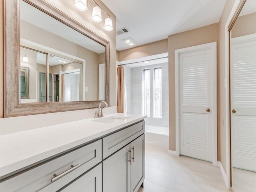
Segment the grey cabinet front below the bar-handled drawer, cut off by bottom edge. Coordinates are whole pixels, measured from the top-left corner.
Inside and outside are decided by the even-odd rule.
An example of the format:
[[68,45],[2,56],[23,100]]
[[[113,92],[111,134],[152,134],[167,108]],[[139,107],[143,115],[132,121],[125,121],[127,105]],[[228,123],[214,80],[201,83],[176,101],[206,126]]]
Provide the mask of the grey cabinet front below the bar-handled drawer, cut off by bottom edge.
[[78,177],[58,192],[102,192],[102,164]]

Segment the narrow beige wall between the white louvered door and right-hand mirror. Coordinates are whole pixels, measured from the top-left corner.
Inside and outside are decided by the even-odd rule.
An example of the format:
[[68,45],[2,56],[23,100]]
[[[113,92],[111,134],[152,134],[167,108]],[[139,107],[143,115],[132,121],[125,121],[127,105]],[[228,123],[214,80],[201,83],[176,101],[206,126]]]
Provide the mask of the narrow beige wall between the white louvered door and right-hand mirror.
[[218,116],[218,161],[221,162],[224,170],[226,171],[226,113],[225,113],[225,64],[226,64],[226,38],[225,33],[227,32],[227,28],[225,27],[230,12],[234,6],[235,0],[227,0],[224,6],[224,10],[222,12],[220,22],[218,23],[218,45],[217,45],[217,54],[218,54],[218,66],[217,66],[217,86],[218,86],[218,94],[217,94],[217,116]]

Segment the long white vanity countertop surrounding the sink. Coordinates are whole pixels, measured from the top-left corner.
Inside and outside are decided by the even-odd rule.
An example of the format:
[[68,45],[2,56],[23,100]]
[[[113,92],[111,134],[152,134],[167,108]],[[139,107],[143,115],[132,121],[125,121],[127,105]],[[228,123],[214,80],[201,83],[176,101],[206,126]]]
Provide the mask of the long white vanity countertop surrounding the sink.
[[122,123],[89,118],[0,136],[0,177],[146,118],[119,113],[103,118],[110,116],[130,118]]

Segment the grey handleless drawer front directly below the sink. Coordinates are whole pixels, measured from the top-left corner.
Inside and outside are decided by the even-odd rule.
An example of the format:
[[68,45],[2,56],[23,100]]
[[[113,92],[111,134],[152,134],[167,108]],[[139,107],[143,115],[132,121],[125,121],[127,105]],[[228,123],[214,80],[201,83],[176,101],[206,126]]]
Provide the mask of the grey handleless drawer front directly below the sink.
[[102,158],[110,156],[145,132],[145,122],[139,122],[128,128],[102,138]]

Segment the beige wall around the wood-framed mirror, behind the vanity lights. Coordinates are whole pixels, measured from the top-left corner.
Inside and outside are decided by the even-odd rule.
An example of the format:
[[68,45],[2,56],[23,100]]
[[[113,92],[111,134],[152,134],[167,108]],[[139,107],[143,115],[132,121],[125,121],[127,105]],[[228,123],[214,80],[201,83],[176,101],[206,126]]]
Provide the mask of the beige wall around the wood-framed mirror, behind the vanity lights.
[[[107,32],[103,29],[104,22],[95,23],[92,21],[92,7],[95,4],[92,1],[88,1],[89,9],[86,12],[80,12],[74,7],[73,1],[62,1],[62,0],[46,0],[46,2],[52,4],[74,20],[86,26],[88,29],[92,30],[102,38],[106,39],[110,42],[110,106],[116,106],[116,17],[114,14],[100,1],[95,0],[110,16],[113,20],[113,28],[112,32]],[[0,0],[0,10],[3,13],[3,0]],[[103,20],[107,16],[102,13]],[[0,34],[3,36],[3,14],[0,14]],[[3,38],[0,38],[0,50],[3,50]],[[0,52],[0,118],[3,117],[3,108],[4,108],[4,100],[3,100],[3,86],[4,86],[4,72],[3,72],[3,51]],[[89,77],[89,76],[88,76]]]

